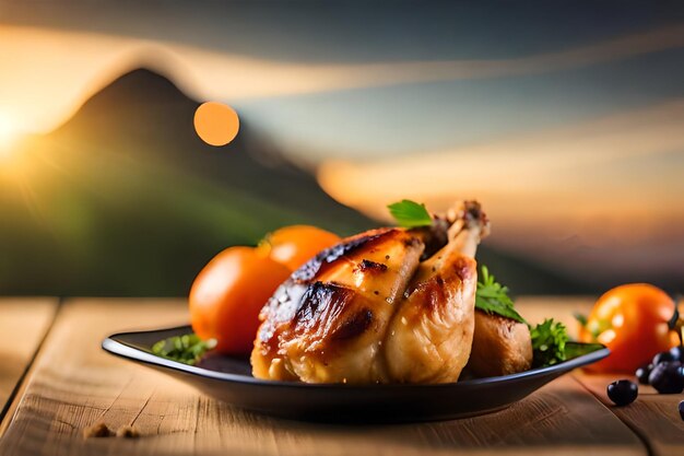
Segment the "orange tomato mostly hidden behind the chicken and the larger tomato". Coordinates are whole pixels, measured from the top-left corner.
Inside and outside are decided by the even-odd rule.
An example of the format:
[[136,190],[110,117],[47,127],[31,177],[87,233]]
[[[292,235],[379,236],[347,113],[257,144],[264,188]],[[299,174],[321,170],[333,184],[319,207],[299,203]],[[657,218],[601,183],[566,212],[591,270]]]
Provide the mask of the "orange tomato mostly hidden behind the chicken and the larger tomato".
[[257,248],[294,271],[316,254],[340,241],[337,234],[316,226],[292,225],[267,235]]

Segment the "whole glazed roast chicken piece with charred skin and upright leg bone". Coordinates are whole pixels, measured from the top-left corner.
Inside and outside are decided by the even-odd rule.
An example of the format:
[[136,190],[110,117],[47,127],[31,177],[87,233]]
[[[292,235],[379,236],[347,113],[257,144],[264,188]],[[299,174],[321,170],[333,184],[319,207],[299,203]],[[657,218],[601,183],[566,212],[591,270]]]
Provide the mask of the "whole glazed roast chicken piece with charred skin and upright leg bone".
[[320,253],[261,311],[256,377],[308,383],[455,382],[474,328],[487,221],[460,202],[432,226],[380,229]]

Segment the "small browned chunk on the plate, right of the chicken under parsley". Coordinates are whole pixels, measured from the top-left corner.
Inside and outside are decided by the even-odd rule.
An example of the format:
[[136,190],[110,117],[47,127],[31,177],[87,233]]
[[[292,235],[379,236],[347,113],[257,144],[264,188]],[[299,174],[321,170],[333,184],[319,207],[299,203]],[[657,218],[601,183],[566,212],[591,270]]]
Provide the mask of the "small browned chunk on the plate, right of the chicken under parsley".
[[515,374],[532,366],[532,339],[524,323],[475,311],[475,332],[468,366],[477,377]]

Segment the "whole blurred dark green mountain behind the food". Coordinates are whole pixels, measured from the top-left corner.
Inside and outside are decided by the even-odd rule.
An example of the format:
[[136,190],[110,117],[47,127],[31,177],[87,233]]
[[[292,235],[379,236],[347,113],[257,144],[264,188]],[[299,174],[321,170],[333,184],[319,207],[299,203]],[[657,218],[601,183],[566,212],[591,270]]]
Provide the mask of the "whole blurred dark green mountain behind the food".
[[[330,198],[240,117],[224,148],[194,133],[199,103],[137,69],[61,127],[31,138],[0,174],[0,295],[185,295],[202,266],[285,224],[341,235],[376,223]],[[520,293],[581,292],[483,247]]]

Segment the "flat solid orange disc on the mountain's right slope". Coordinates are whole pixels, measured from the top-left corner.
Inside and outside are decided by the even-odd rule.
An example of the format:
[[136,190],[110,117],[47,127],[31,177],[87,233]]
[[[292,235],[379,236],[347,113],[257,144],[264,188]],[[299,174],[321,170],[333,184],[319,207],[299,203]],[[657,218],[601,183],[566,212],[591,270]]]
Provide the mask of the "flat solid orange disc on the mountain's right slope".
[[235,139],[239,127],[237,113],[231,106],[207,102],[194,112],[194,130],[208,144],[226,145]]

